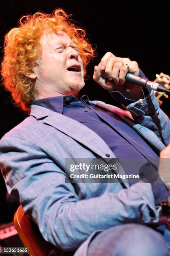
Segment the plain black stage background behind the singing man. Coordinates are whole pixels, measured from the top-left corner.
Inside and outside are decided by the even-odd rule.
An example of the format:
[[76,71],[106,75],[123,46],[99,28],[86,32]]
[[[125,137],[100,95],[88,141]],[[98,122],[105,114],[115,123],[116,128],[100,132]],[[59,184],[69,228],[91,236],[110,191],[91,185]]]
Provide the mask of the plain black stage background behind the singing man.
[[[101,57],[111,51],[120,57],[129,57],[139,63],[140,69],[150,79],[163,72],[170,75],[170,4],[169,1],[14,1],[1,3],[0,10],[0,56],[3,58],[4,35],[11,28],[18,26],[22,15],[43,10],[51,13],[61,7],[66,13],[74,14],[72,18],[78,26],[86,28],[91,44],[97,46],[98,56],[88,68],[92,77],[94,65]],[[113,103],[108,92],[96,84],[92,78],[86,81],[82,94],[90,100],[103,100]],[[169,100],[163,100],[161,108],[169,115]],[[0,86],[0,137],[27,115],[17,110],[12,103],[10,93]],[[13,205],[7,204],[5,184],[0,176],[0,223],[7,223],[13,218]]]

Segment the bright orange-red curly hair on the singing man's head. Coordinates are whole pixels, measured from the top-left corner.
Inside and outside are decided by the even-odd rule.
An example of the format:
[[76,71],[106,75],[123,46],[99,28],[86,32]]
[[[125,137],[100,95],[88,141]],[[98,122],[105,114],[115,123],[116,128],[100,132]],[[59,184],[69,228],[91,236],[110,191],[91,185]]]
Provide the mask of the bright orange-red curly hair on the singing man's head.
[[11,92],[15,105],[24,111],[30,111],[31,102],[34,100],[34,82],[25,74],[33,70],[41,56],[39,40],[44,29],[55,33],[62,30],[70,36],[79,47],[86,74],[87,64],[94,57],[94,49],[85,39],[86,32],[76,27],[69,16],[61,8],[51,14],[37,12],[34,15],[25,15],[20,19],[20,26],[5,35],[1,69],[3,84]]

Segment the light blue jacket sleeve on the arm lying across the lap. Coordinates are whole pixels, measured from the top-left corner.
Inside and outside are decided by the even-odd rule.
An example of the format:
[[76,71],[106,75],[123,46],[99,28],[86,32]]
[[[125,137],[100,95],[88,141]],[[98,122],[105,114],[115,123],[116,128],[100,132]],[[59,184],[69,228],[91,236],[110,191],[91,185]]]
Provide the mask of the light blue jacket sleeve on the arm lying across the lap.
[[105,192],[79,200],[51,156],[11,134],[0,142],[0,168],[8,192],[20,197],[46,241],[64,251],[78,248],[94,231],[159,218],[150,184],[137,183],[117,194]]

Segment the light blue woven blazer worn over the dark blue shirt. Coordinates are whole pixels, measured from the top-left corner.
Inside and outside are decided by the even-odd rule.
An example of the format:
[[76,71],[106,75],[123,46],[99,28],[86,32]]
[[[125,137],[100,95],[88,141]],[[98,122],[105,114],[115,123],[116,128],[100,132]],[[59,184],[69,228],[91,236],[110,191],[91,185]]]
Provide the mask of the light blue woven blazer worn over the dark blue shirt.
[[[131,125],[157,152],[170,141],[170,120],[153,94],[127,106],[128,113],[104,102],[91,101]],[[126,134],[122,131],[122,136]],[[139,148],[140,150],[140,148]],[[86,255],[91,238],[122,223],[158,221],[151,185],[126,189],[117,183],[65,183],[65,159],[115,158],[91,129],[64,115],[32,105],[22,123],[0,141],[0,168],[9,193],[20,198],[46,241],[64,251]]]

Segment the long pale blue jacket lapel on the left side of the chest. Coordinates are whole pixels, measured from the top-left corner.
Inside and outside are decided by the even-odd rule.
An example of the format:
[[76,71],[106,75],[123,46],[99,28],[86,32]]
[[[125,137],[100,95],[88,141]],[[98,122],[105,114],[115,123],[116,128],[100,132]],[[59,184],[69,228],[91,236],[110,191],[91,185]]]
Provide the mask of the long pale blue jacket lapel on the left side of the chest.
[[37,105],[31,105],[30,115],[74,138],[102,158],[107,158],[106,154],[116,158],[100,136],[76,120]]

